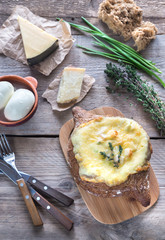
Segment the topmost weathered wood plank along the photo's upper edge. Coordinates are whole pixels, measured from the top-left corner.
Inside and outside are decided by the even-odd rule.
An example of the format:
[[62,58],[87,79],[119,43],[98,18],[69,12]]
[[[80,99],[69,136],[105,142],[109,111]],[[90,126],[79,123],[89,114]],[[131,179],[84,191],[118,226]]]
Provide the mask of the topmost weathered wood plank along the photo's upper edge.
[[[16,5],[23,5],[30,8],[36,14],[46,17],[69,16],[80,17],[82,14],[88,17],[97,17],[99,4],[102,0],[1,0],[0,13],[9,15]],[[165,3],[161,0],[139,0],[135,1],[143,10],[144,17],[165,18]],[[154,6],[154,11],[153,11]]]

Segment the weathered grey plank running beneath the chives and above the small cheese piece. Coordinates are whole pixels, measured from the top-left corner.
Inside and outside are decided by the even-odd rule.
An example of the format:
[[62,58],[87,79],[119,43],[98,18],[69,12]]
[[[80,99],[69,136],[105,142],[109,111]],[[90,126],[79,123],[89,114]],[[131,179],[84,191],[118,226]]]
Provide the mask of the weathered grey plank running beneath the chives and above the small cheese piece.
[[[99,57],[99,56],[91,56],[84,54],[82,49],[77,48],[76,45],[85,46],[87,48],[93,48],[101,50],[101,48],[96,48],[92,42],[93,39],[87,35],[73,35],[76,40],[74,46],[72,47],[69,54],[66,56],[62,64],[60,64],[49,76],[44,76],[38,73],[32,67],[30,68],[27,65],[23,65],[22,63],[10,59],[3,54],[0,54],[0,75],[16,75],[20,76],[28,76],[33,75],[39,81],[38,90],[44,91],[48,84],[57,76],[59,72],[63,70],[64,67],[72,64],[74,66],[84,66],[86,67],[86,72],[89,75],[93,75],[97,79],[100,77],[101,80],[97,81],[97,86],[104,86],[105,77],[104,77],[104,69],[106,63],[110,62],[110,59]],[[120,39],[120,38],[118,38]],[[121,39],[120,39],[121,40]],[[133,46],[133,42],[129,41],[129,45]],[[151,42],[151,44],[144,50],[141,54],[149,60],[152,60],[156,63],[156,66],[162,71],[160,75],[162,79],[165,78],[165,65],[164,65],[164,55],[165,55],[165,35],[157,36],[157,38]],[[143,73],[144,75],[144,73]],[[145,76],[144,76],[145,77]],[[157,80],[153,80],[149,78],[149,81],[157,88],[160,95],[164,96],[164,89],[160,86]],[[42,84],[41,84],[42,83]]]

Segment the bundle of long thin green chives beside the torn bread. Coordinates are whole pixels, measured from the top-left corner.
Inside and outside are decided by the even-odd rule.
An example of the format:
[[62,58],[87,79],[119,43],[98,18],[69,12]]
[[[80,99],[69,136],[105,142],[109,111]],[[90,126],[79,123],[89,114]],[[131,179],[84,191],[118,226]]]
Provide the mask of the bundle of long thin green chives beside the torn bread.
[[[59,18],[57,19],[60,20]],[[156,74],[162,72],[155,66],[155,63],[152,63],[150,60],[143,58],[139,53],[137,53],[133,48],[129,47],[128,45],[109,37],[107,34],[95,27],[84,17],[82,17],[82,19],[89,27],[70,22],[68,23],[78,30],[91,34],[92,37],[95,39],[94,44],[97,47],[101,47],[107,51],[102,52],[77,45],[77,47],[83,49],[84,53],[99,55],[112,60],[116,60],[119,62],[122,61],[124,63],[133,65],[137,69],[146,72],[149,76],[154,76],[162,84],[162,86],[165,87],[165,82]],[[100,39],[105,41],[107,44],[102,42]]]

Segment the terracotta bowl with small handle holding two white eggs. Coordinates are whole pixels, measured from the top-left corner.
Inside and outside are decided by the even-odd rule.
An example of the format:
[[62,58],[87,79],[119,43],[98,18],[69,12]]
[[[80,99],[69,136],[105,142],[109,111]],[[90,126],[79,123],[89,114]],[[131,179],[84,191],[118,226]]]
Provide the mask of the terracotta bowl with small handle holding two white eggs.
[[25,87],[28,87],[28,89],[31,90],[35,96],[35,103],[33,105],[33,108],[24,118],[22,118],[18,121],[8,121],[8,120],[2,121],[0,119],[0,124],[5,125],[5,126],[16,126],[16,125],[22,124],[22,123],[26,122],[27,120],[29,120],[35,113],[35,111],[37,109],[37,105],[38,105],[38,93],[36,90],[37,85],[38,85],[37,80],[33,77],[23,78],[23,77],[20,77],[17,75],[6,75],[6,76],[1,76],[0,81],[8,81],[10,83],[21,83],[22,85],[25,85]]

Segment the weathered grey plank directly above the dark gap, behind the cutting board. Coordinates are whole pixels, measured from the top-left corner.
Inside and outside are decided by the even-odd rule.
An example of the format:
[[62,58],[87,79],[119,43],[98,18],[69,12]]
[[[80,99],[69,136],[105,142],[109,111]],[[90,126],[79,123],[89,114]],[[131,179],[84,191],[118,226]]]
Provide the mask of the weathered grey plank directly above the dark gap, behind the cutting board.
[[[142,105],[128,94],[109,94],[104,87],[93,87],[88,96],[79,104],[86,110],[99,106],[111,106],[119,109],[128,118],[133,118],[148,132],[150,137],[159,137],[155,123],[149,113],[144,112]],[[165,100],[165,99],[164,99]],[[62,125],[72,118],[71,109],[65,113],[51,110],[46,100],[39,100],[35,116],[28,122],[16,127],[2,127],[1,132],[12,135],[58,135]]]

